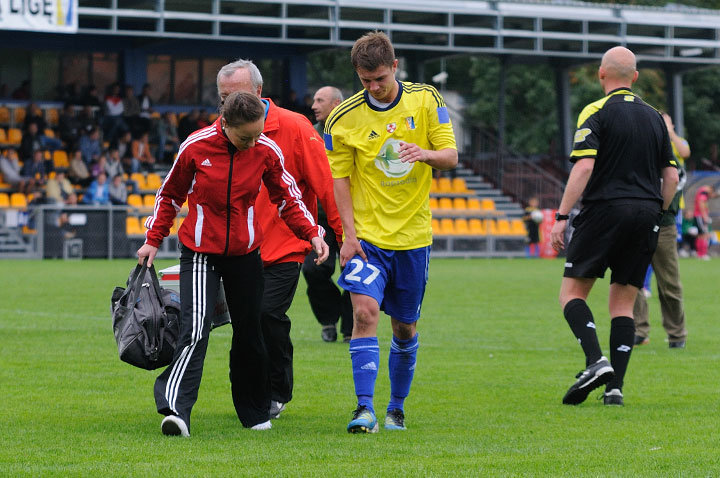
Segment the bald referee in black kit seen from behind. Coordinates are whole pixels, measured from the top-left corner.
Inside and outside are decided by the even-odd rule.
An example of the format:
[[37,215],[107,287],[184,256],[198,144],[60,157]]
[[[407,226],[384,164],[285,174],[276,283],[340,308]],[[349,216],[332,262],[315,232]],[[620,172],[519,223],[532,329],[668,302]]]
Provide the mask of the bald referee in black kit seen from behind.
[[[559,251],[565,247],[570,209],[582,195],[560,287],[560,305],[586,367],[563,397],[568,405],[582,403],[601,385],[606,385],[606,405],[623,404],[623,378],[635,337],[633,305],[657,245],[661,210],[669,206],[678,183],[662,116],[631,90],[637,77],[635,55],[627,48],[614,47],[603,55],[598,78],[606,96],[580,113],[570,155],[574,165],[552,228],[552,245]],[[608,267],[609,361],[585,302]]]

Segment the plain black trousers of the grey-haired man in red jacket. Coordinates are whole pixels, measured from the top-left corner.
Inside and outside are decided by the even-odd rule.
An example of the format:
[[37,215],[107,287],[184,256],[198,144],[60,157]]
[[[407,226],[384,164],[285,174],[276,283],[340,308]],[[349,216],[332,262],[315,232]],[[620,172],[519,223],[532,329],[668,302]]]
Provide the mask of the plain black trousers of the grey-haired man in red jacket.
[[293,345],[287,311],[295,297],[300,264],[283,262],[265,266],[264,276],[261,322],[269,357],[270,396],[287,403],[292,400],[293,389]]

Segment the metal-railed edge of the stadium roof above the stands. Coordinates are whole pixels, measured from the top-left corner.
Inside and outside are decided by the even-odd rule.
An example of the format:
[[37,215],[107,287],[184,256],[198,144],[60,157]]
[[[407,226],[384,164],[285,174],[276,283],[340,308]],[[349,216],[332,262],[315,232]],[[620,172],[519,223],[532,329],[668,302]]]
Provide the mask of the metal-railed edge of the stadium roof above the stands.
[[80,0],[79,33],[318,49],[387,31],[401,51],[584,62],[626,45],[640,61],[720,64],[720,11],[576,1]]

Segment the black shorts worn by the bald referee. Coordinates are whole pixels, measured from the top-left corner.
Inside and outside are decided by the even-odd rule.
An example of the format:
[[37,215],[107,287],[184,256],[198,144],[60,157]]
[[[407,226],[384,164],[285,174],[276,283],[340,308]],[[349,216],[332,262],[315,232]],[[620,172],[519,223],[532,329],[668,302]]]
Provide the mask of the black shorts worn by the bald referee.
[[642,287],[657,247],[660,204],[655,201],[615,201],[583,207],[573,219],[565,277],[604,277],[610,283]]

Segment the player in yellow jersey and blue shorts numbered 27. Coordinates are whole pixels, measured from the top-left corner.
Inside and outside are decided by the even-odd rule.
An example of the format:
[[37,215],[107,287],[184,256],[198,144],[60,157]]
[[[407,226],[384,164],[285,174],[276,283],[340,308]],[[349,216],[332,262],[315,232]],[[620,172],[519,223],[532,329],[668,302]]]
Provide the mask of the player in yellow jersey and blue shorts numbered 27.
[[363,35],[350,57],[364,89],[333,110],[324,131],[345,232],[338,284],[350,291],[354,311],[350,356],[358,405],[347,430],[378,429],[380,310],[393,330],[385,428],[404,430],[432,244],[432,169],[454,168],[457,149],[442,96],[432,86],[395,79],[398,60],[384,33]]

